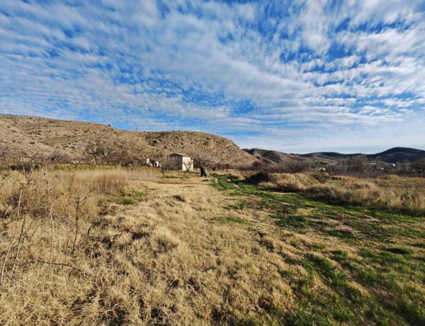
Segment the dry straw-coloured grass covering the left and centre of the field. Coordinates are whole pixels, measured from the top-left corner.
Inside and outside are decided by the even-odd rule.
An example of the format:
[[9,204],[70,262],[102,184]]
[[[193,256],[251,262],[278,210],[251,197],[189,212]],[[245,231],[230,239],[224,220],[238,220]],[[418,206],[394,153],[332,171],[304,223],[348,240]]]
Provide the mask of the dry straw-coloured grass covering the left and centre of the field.
[[249,212],[222,218],[232,201],[175,172],[7,172],[0,323],[278,322],[295,309],[280,270],[297,254],[266,223],[251,232]]

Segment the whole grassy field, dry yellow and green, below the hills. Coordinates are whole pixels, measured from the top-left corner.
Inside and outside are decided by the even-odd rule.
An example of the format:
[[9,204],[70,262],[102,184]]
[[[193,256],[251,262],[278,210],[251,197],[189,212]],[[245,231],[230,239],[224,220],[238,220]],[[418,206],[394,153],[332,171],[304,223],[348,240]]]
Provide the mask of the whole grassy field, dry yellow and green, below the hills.
[[0,176],[2,325],[425,325],[424,180]]

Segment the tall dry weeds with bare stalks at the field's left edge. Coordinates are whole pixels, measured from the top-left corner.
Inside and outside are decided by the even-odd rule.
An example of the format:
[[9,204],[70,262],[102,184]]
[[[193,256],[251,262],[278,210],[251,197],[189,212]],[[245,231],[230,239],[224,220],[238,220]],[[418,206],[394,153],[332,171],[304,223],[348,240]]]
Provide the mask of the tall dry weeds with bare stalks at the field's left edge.
[[[124,177],[125,176],[125,177]],[[0,249],[1,281],[30,264],[68,266],[74,251],[98,220],[103,196],[128,186],[125,172],[42,170],[3,174],[0,216],[6,235]]]

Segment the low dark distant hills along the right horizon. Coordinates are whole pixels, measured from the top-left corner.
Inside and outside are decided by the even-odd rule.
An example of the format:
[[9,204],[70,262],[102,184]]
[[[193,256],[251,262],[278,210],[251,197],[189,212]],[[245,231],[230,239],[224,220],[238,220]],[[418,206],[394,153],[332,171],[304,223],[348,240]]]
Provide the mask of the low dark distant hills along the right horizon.
[[[361,153],[356,154],[342,154],[338,152],[314,152],[309,154],[286,154],[283,152],[276,152],[274,150],[260,150],[254,148],[252,150],[244,150],[249,152],[249,154],[254,155],[258,159],[262,159],[264,162],[282,162],[285,158],[298,158],[298,159],[307,159],[309,161],[318,161],[324,163],[331,163],[339,161],[340,159],[346,159],[348,157],[353,157],[360,155]],[[365,154],[368,159],[376,159],[381,162],[386,163],[397,163],[397,162],[414,162],[417,159],[425,158],[425,150],[416,150],[415,148],[408,147],[394,147],[390,150],[385,150],[384,152],[376,154]]]

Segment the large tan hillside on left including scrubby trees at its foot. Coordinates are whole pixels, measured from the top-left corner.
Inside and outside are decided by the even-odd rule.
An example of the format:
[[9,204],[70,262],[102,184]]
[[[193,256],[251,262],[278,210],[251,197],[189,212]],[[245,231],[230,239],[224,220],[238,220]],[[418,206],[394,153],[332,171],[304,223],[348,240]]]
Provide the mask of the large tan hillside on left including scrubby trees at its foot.
[[0,164],[128,165],[172,152],[208,152],[221,164],[256,161],[231,140],[208,133],[128,131],[98,123],[2,114],[0,129]]

